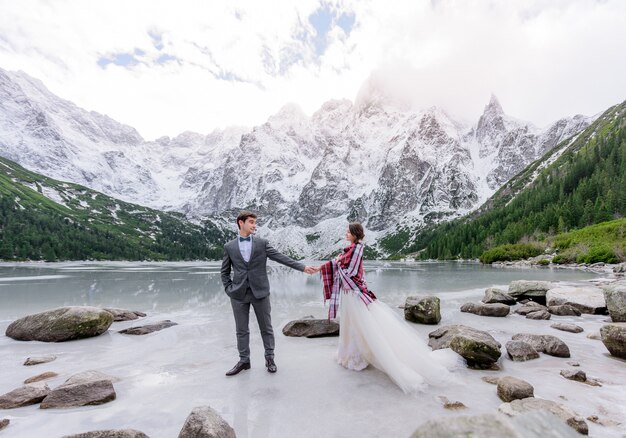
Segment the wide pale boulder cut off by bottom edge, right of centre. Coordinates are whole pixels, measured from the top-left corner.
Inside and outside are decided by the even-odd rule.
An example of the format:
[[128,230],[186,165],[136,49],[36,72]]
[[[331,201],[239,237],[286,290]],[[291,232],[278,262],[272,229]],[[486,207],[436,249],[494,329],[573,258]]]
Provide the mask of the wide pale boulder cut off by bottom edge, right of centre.
[[500,413],[441,417],[420,425],[412,438],[576,438],[579,435],[550,412],[528,412],[516,417]]

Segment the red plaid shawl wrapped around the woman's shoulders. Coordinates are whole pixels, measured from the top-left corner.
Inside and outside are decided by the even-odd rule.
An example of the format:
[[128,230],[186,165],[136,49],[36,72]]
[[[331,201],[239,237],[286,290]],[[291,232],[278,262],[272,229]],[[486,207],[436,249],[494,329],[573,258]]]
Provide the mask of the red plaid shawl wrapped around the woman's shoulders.
[[343,254],[338,259],[333,259],[322,265],[320,274],[324,283],[324,304],[326,304],[326,300],[330,300],[328,319],[337,316],[341,290],[358,292],[359,298],[365,304],[370,304],[376,299],[376,295],[367,289],[365,278],[363,278],[362,243],[353,243],[344,248]]

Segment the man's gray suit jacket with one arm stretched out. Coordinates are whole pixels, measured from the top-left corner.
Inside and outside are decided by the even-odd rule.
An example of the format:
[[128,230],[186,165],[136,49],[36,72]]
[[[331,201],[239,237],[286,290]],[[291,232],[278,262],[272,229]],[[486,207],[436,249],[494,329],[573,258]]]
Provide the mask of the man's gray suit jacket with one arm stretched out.
[[[304,265],[275,250],[265,239],[252,238],[250,261],[246,263],[239,251],[239,237],[224,245],[222,260],[222,283],[229,297],[242,300],[250,288],[256,298],[270,294],[270,282],[267,278],[267,259],[274,260],[290,268],[304,271]],[[231,268],[234,271],[231,278]]]

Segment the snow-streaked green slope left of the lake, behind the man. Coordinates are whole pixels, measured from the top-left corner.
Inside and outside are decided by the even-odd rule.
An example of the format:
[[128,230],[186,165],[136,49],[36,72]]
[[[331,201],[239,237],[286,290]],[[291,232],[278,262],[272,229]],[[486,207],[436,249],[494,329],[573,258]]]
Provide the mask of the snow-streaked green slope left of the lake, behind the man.
[[216,259],[229,237],[0,158],[2,260]]

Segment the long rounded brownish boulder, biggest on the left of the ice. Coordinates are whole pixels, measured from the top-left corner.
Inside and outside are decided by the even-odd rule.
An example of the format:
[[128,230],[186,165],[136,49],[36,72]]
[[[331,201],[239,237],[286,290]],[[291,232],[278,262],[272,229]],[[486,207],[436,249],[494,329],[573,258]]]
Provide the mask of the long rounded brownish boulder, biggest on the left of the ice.
[[60,307],[13,321],[6,335],[18,341],[63,342],[106,332],[113,315],[97,307]]

